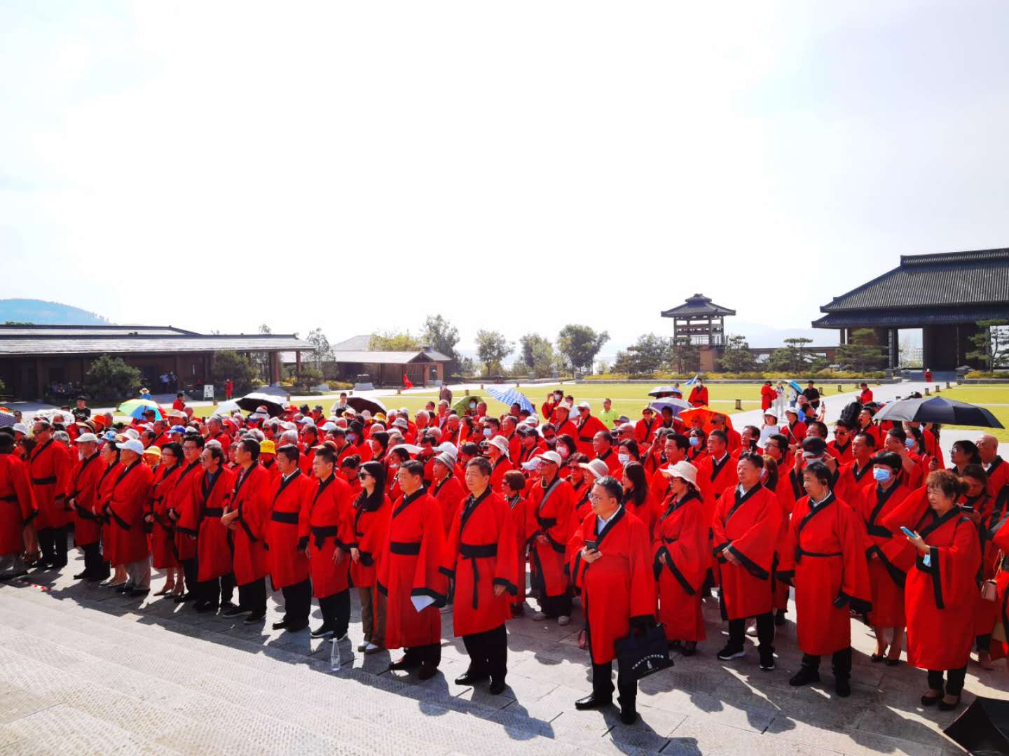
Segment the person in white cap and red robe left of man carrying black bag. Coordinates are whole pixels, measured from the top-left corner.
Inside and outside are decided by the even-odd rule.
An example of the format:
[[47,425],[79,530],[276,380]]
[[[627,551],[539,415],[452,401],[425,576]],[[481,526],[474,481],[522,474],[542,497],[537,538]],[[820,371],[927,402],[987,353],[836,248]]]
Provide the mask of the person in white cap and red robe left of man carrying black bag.
[[574,507],[574,489],[558,475],[561,456],[544,452],[536,458],[540,480],[526,499],[526,531],[529,559],[533,565],[533,588],[539,592],[537,622],[556,617],[559,625],[571,621],[571,590],[564,573],[564,551],[570,539],[569,521]]

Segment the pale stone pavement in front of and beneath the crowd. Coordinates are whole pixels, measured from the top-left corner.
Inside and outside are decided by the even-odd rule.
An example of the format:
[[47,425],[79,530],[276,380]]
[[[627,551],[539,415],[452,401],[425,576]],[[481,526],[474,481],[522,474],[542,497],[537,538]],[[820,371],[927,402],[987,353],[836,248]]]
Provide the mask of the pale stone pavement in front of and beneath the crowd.
[[[590,689],[588,660],[567,627],[509,623],[509,688],[499,697],[452,681],[466,667],[443,616],[441,672],[420,682],[389,672],[389,654],[352,653],[361,640],[356,598],[343,664],[307,631],[200,615],[156,598],[126,599],[75,583],[80,559],[59,576],[0,586],[0,754],[553,754],[660,752],[751,756],[960,753],[941,734],[956,713],[923,710],[924,673],[870,662],[871,631],[853,623],[849,699],[823,683],[792,688],[800,653],[795,626],[780,628],[778,668],[762,672],[756,650],[730,663],[717,605],[705,602],[708,639],[698,655],[641,684],[642,720],[616,710],[576,712]],[[160,579],[154,582],[160,586]],[[278,598],[274,595],[273,599]],[[531,614],[531,613],[530,613]],[[318,624],[315,610],[313,624]],[[265,629],[264,629],[265,628]],[[399,652],[394,652],[399,656]],[[972,665],[974,695],[1005,698],[1009,673]]]

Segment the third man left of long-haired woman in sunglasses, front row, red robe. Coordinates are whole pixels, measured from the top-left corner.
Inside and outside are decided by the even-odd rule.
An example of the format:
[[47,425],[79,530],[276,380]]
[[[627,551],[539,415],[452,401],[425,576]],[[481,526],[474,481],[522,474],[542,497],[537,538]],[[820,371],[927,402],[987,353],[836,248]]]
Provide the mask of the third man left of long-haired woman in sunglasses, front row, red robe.
[[238,606],[223,617],[248,616],[253,625],[266,616],[266,575],[269,564],[263,535],[269,510],[270,475],[259,464],[259,442],[251,436],[233,445],[238,469],[231,500],[221,524],[231,530],[232,569],[238,586]]

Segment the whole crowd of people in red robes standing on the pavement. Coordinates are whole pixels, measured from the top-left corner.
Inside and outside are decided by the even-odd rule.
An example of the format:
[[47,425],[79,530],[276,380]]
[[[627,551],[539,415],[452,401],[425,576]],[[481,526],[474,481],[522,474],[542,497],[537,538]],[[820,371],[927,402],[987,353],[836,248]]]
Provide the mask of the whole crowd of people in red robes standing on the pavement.
[[[793,595],[804,654],[793,685],[818,680],[829,655],[836,695],[851,695],[857,618],[876,634],[873,662],[906,652],[927,670],[922,705],[955,708],[972,651],[984,668],[1006,655],[1009,464],[997,439],[958,440],[947,464],[938,427],[875,420],[865,384],[832,437],[818,393],[781,409],[762,393],[763,424],[739,430],[669,402],[630,418],[607,400],[603,420],[563,391],[502,415],[476,398],[356,411],[341,395],[328,414],[199,417],[180,396],[164,417],[128,423],[81,399],[0,429],[0,580],[62,570],[72,535],[75,579],[139,596],[153,568],[165,575],[156,596],[250,625],[264,620],[268,579],[284,599],[274,630],[308,628],[315,598],[310,632],[334,642],[354,591],[358,650],[403,648],[391,666],[422,678],[437,671],[451,611],[470,657],[457,681],[498,694],[528,573],[534,619],[567,625],[580,602],[593,691],[579,709],[612,702],[622,638],[661,623],[671,648],[696,653],[702,600],[715,595],[727,630],[717,658],[743,659],[751,633],[772,671]],[[701,382],[690,401],[707,403]],[[616,692],[634,722],[630,670],[618,669]]]

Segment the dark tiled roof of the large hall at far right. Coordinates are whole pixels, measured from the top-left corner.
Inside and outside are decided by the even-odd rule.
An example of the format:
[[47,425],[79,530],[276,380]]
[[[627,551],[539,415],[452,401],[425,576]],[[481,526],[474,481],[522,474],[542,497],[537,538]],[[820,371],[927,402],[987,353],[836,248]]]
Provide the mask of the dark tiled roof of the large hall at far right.
[[1009,249],[902,256],[900,266],[834,297],[820,311],[969,304],[1009,304]]

